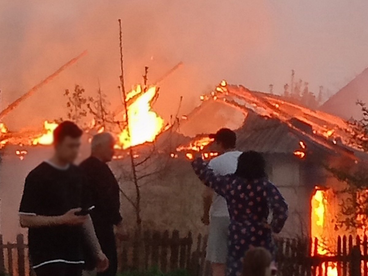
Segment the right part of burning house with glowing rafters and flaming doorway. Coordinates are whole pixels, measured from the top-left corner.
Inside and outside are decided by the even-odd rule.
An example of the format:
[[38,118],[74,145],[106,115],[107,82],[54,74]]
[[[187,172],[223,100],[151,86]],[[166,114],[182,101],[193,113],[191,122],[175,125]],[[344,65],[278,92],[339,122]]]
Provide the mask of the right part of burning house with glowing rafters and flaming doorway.
[[[336,254],[338,235],[367,234],[364,214],[353,215],[353,219],[360,222],[356,227],[345,224],[351,219],[345,212],[350,208],[348,205],[355,200],[364,205],[366,191],[352,197],[347,195],[347,183],[339,181],[330,171],[331,167],[350,172],[367,168],[368,156],[350,145],[346,121],[287,102],[279,96],[224,82],[211,95],[201,99],[204,105],[220,102],[231,106],[245,117],[236,130],[237,148],[265,155],[269,178],[289,202],[289,219],[282,231],[284,236],[318,238],[316,253],[327,255]],[[199,109],[190,120],[197,121],[201,117]],[[197,141],[206,139],[200,137]],[[198,148],[195,141],[184,148],[202,151],[205,158],[215,155],[210,145]],[[187,153],[187,158],[191,156]],[[337,275],[333,263],[323,270],[328,275]]]

